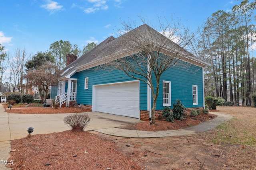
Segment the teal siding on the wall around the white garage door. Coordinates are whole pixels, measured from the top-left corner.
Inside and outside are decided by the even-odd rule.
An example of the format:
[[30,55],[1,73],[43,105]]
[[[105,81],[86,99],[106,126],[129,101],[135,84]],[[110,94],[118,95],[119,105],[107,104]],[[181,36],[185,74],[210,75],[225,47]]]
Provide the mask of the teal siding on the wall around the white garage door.
[[[84,89],[84,79],[88,77],[88,89]],[[97,84],[108,84],[136,80],[126,76],[123,72],[114,70],[112,72],[94,70],[93,68],[76,72],[71,78],[77,78],[77,104],[92,105],[92,86]],[[147,85],[140,81],[140,109],[147,109]]]

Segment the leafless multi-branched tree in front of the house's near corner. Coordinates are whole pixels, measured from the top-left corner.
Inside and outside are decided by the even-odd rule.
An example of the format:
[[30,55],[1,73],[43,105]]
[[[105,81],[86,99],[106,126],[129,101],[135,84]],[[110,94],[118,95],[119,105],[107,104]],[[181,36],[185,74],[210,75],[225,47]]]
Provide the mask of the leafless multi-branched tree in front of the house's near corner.
[[[159,94],[159,82],[162,73],[171,67],[187,67],[193,55],[186,51],[193,38],[188,29],[174,21],[164,25],[160,23],[154,29],[147,24],[134,29],[123,22],[127,32],[120,36],[119,42],[110,41],[104,62],[100,69],[121,70],[126,76],[141,80],[148,84],[152,91],[153,107],[152,124],[155,124],[156,100]],[[174,43],[175,42],[175,43]],[[196,58],[195,58],[196,59]],[[104,63],[104,64],[103,64]],[[188,68],[188,67],[187,67]]]

